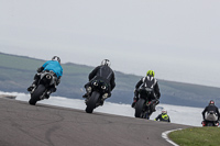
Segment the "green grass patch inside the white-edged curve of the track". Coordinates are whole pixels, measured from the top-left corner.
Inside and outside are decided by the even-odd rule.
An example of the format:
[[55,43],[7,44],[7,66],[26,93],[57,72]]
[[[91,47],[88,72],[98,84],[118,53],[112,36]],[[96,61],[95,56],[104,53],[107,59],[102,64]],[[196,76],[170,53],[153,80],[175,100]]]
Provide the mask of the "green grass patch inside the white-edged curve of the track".
[[172,132],[169,138],[179,146],[219,146],[220,128],[193,127]]

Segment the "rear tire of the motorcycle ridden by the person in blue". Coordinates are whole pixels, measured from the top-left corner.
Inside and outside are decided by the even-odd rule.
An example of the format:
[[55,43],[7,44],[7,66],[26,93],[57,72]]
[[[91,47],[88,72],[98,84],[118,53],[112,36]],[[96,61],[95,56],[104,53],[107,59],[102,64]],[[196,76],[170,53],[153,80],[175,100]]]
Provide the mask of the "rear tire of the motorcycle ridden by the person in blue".
[[31,94],[31,99],[29,100],[29,103],[31,105],[35,105],[37,101],[40,101],[40,97],[44,93],[45,91],[45,86],[43,85],[40,85],[35,90],[34,92]]

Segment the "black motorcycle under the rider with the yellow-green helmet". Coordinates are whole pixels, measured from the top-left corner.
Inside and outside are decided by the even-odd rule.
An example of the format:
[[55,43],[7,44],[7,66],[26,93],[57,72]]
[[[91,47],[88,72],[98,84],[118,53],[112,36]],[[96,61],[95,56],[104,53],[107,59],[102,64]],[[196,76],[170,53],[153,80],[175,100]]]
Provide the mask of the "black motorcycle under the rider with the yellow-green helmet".
[[139,100],[135,104],[135,117],[141,119],[150,119],[152,114],[152,104],[156,102],[156,100],[150,100],[151,96],[154,94],[152,88],[141,88],[138,90],[139,92]]

